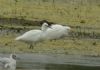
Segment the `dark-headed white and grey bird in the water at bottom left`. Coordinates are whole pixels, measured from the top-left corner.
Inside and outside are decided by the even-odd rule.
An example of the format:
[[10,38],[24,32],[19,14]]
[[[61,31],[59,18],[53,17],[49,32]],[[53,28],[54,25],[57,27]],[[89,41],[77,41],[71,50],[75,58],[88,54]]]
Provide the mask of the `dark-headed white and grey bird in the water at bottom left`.
[[0,57],[0,62],[4,64],[4,68],[7,70],[16,70],[16,55],[11,54],[9,58]]

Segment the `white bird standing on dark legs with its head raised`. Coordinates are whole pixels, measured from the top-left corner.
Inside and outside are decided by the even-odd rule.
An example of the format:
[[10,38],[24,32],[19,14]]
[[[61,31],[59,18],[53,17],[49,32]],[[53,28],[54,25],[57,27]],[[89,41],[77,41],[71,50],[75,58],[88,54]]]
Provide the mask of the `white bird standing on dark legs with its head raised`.
[[41,30],[30,30],[24,33],[23,35],[17,37],[15,40],[26,42],[30,44],[30,48],[33,48],[33,43],[35,44],[36,42],[43,40],[42,33],[44,33],[44,31],[46,31],[47,28],[48,24],[43,23]]

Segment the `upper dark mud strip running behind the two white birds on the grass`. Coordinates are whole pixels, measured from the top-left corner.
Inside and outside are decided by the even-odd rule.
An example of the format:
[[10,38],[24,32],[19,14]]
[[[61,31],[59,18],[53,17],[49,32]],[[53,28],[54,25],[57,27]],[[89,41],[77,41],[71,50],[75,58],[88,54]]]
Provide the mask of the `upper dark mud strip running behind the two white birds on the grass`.
[[[45,20],[45,19],[43,19]],[[11,24],[11,25],[22,25],[22,26],[41,26],[41,21],[42,20],[27,20],[24,18],[3,18],[0,17],[0,24]],[[48,21],[48,20],[47,20]],[[58,24],[55,22],[48,21],[49,24]],[[65,23],[67,25],[67,23]],[[77,26],[77,25],[68,25],[71,28],[76,28],[76,29],[100,29],[100,27],[91,27],[91,26]],[[2,27],[2,25],[0,25]]]

